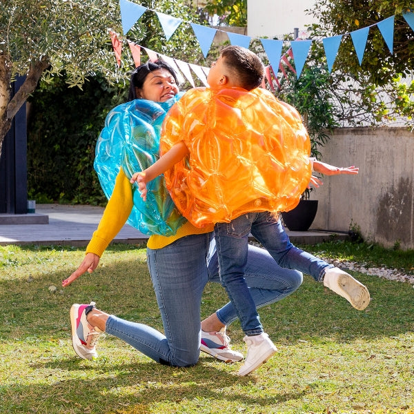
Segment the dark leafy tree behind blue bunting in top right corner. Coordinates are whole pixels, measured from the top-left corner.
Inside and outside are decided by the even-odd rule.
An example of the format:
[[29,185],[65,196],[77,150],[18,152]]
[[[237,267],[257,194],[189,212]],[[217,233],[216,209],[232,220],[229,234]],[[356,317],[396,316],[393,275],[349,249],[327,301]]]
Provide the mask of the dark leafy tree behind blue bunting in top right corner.
[[317,0],[308,10],[317,17],[315,26],[324,37],[353,32],[375,25],[395,15],[393,54],[388,50],[380,30],[371,28],[362,65],[359,66],[350,36],[342,39],[335,68],[358,75],[364,72],[367,80],[375,85],[384,85],[396,75],[411,75],[414,65],[414,32],[406,23],[402,13],[413,6],[411,0],[380,1],[335,1]]

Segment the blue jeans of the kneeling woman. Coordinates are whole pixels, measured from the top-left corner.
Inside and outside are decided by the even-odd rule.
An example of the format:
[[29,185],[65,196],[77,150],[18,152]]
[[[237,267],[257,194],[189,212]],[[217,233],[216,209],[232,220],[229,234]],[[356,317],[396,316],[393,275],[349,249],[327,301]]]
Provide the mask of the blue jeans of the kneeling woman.
[[[276,223],[275,226],[282,230],[282,235],[286,235],[280,224]],[[208,255],[210,237],[210,234],[189,235],[164,248],[147,249],[148,268],[165,335],[150,326],[128,322],[113,315],[106,322],[106,332],[123,339],[161,364],[196,364],[201,338],[201,293],[209,279],[219,282],[217,255],[213,249]],[[290,268],[299,266],[298,268],[302,268],[306,273],[308,271],[304,268],[312,269],[313,276],[317,274],[322,277],[323,269],[329,266],[326,262],[295,248],[290,244],[287,235],[281,243],[280,250],[274,254],[280,256],[284,265],[289,264]],[[288,250],[293,252],[290,253]],[[297,265],[293,263],[295,257]],[[309,258],[315,260],[315,264],[308,264]],[[318,277],[315,279],[319,280]],[[257,308],[283,299],[302,283],[302,273],[279,267],[265,250],[255,246],[248,246],[245,278]],[[237,319],[231,303],[217,311],[217,316],[224,324],[230,324]]]

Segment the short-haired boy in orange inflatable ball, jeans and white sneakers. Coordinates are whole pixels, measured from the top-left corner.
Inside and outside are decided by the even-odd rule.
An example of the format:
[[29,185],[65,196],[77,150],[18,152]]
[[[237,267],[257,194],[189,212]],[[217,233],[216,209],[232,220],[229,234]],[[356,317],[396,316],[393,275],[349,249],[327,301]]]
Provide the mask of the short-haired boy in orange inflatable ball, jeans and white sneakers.
[[[224,48],[208,73],[210,89],[190,90],[169,112],[162,132],[164,155],[131,178],[145,199],[146,182],[166,171],[167,187],[181,213],[195,226],[215,223],[221,281],[248,346],[239,375],[254,371],[277,351],[244,280],[248,235],[273,257],[279,255],[275,213],[293,208],[311,178],[310,142],[299,114],[259,89],[262,79],[263,65],[253,52]],[[314,264],[307,266],[306,273],[315,274]],[[315,268],[326,274],[333,266]],[[327,280],[335,279],[335,285],[338,277]],[[351,291],[359,290],[353,295],[363,297],[357,306],[366,306],[368,290],[347,277]],[[339,294],[348,300],[352,296]]]

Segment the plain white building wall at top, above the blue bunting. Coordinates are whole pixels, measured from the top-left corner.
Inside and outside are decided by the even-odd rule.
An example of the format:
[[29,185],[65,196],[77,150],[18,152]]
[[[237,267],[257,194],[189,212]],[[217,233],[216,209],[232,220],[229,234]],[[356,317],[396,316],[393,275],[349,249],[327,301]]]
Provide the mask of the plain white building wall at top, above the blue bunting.
[[305,9],[311,9],[315,0],[248,0],[248,36],[281,37],[293,33],[294,28],[304,30],[315,22]]

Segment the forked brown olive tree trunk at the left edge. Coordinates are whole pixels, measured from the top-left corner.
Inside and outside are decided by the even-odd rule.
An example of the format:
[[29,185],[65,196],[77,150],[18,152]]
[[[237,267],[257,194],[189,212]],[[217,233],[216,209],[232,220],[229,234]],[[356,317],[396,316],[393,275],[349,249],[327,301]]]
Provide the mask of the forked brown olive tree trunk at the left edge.
[[12,119],[29,95],[36,89],[41,74],[50,65],[47,56],[42,57],[30,67],[26,81],[10,100],[11,63],[5,56],[0,55],[0,157],[4,137],[12,126]]

